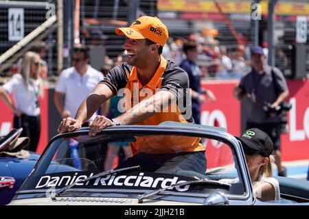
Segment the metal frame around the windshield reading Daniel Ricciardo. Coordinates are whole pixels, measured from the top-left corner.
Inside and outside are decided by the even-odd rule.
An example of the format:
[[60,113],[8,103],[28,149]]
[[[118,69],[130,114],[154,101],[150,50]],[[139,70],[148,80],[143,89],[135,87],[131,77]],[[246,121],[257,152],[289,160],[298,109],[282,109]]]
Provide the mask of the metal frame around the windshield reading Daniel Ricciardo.
[[[202,127],[202,129],[201,129]],[[244,152],[242,150],[242,146],[240,142],[234,137],[231,136],[229,133],[225,131],[225,129],[222,128],[216,128],[216,127],[207,127],[203,125],[190,125],[190,126],[179,126],[179,125],[125,125],[125,126],[114,126],[114,127],[107,127],[98,135],[100,134],[108,134],[108,133],[121,133],[126,131],[126,133],[135,133],[135,134],[143,134],[143,135],[183,135],[183,136],[192,136],[192,137],[200,137],[200,138],[211,138],[214,140],[218,140],[220,142],[223,142],[227,144],[229,147],[231,147],[233,153],[233,158],[237,159],[235,162],[238,162],[238,177],[240,177],[240,180],[244,183],[244,195],[233,195],[233,194],[227,194],[229,198],[233,198],[236,200],[249,200],[250,202],[254,200],[253,194],[252,194],[252,183],[251,179],[249,177],[249,170],[247,167],[247,162],[244,157]],[[51,144],[55,142],[56,140],[59,140],[60,138],[73,138],[80,135],[87,135],[89,133],[89,128],[82,128],[78,129],[76,131],[73,131],[71,133],[63,133],[58,134],[50,142],[47,144],[47,147],[45,148],[43,154],[41,155],[40,159],[36,163],[36,166],[34,166],[34,169],[30,173],[30,175],[27,177],[21,188],[16,192],[16,195],[18,194],[28,194],[34,192],[33,190],[23,190],[24,185],[27,183],[27,180],[34,175],[34,172],[38,170],[38,166],[41,165],[43,159],[46,159],[47,153],[51,153]],[[71,190],[71,189],[70,189]],[[114,190],[115,191],[115,190]],[[38,191],[36,191],[38,192]],[[43,191],[42,191],[43,192]],[[116,192],[116,191],[115,191]],[[124,192],[124,190],[122,190]],[[160,194],[172,194],[175,192],[172,191],[164,191]],[[41,193],[41,192],[40,192]],[[68,191],[68,193],[70,193]],[[104,192],[105,193],[105,192]],[[191,194],[190,194],[191,193]],[[178,194],[180,196],[196,196],[196,193],[192,192],[182,192],[181,194]],[[204,197],[206,198],[206,194],[204,194]]]

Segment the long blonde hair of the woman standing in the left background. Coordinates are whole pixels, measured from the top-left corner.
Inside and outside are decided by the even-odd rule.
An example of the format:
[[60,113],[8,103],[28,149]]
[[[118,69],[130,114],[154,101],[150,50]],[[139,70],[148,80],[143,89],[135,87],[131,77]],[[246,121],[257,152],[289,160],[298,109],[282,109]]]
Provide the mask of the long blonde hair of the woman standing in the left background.
[[[23,55],[23,59],[21,61],[21,69],[20,69],[20,74],[21,77],[23,77],[23,81],[25,83],[25,88],[27,90],[27,92],[29,92],[29,86],[30,86],[30,68],[31,68],[31,62],[33,62],[34,57],[40,57],[40,55],[38,55],[38,53],[34,53],[32,51],[27,51],[24,55]],[[43,90],[42,90],[42,79],[40,77],[40,65],[36,71],[36,76],[37,79],[39,81],[39,94],[43,95]]]

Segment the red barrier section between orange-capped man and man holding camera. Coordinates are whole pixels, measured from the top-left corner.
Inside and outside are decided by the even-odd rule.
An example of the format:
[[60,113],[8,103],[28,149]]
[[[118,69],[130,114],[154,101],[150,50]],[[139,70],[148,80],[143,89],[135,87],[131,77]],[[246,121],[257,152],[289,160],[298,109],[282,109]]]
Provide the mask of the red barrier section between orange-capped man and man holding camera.
[[[203,88],[214,92],[217,101],[207,101],[201,106],[202,125],[224,127],[233,136],[240,135],[240,101],[233,97],[236,84],[238,81],[203,82]],[[209,168],[233,162],[229,148],[214,140],[207,141],[206,156]]]

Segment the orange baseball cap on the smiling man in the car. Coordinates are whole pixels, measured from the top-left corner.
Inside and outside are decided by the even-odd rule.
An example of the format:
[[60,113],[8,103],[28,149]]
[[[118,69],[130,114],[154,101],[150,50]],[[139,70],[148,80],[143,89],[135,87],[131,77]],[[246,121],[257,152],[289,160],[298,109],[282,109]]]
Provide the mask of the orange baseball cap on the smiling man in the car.
[[168,40],[168,28],[156,16],[141,16],[130,27],[116,28],[115,33],[135,40],[147,38],[162,47]]

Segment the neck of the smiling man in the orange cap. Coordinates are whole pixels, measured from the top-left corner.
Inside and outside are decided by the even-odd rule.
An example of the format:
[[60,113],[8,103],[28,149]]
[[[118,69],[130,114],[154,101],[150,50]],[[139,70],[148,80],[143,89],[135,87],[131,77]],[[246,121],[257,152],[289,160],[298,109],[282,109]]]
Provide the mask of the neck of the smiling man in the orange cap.
[[157,69],[160,66],[161,62],[161,55],[156,57],[155,59],[148,60],[147,63],[142,64],[137,68],[137,75],[139,76],[139,81],[141,82],[142,86],[145,86],[149,81],[152,79],[152,77],[157,72]]

